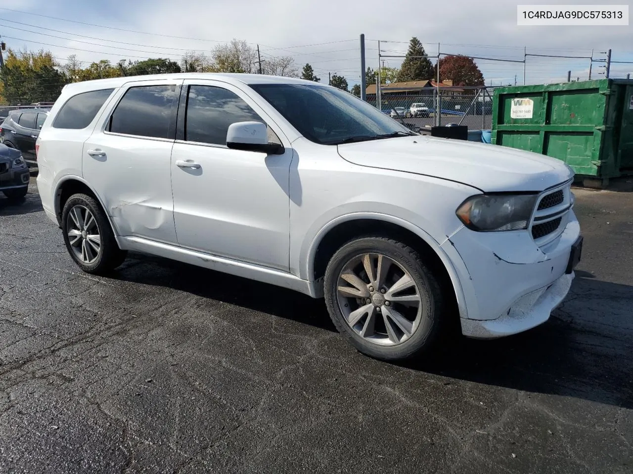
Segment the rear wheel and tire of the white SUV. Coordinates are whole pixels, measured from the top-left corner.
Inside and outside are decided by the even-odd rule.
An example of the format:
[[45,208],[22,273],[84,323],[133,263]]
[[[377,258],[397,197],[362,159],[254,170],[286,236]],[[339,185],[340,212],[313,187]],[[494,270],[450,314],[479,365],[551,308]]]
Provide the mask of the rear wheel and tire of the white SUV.
[[68,198],[61,214],[61,228],[66,250],[86,273],[107,273],[121,265],[127,256],[127,252],[118,247],[103,209],[87,194]]

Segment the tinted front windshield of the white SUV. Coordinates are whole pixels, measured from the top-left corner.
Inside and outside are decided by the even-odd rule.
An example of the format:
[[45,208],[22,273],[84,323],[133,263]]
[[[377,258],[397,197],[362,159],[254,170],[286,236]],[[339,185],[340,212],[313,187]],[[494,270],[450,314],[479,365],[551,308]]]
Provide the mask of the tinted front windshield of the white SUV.
[[415,135],[348,92],[322,85],[251,85],[303,137],[321,145]]

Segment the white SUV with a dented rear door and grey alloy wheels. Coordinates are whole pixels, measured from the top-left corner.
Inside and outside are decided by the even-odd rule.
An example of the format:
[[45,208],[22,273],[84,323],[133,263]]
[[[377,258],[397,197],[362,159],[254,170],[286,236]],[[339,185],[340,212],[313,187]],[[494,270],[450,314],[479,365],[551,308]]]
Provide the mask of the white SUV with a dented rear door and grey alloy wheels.
[[471,337],[541,324],[580,257],[563,162],[417,135],[314,82],[74,83],[37,150],[42,204],[84,271],[129,250],[325,296],[382,359],[429,349],[451,319]]

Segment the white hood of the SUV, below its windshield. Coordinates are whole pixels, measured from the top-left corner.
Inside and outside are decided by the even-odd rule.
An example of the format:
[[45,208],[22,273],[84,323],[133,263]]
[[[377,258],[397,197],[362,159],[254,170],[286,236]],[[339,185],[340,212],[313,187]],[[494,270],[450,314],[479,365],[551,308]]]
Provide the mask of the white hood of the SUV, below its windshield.
[[542,191],[573,176],[564,162],[546,155],[428,135],[346,143],[338,151],[360,166],[448,179],[484,192]]

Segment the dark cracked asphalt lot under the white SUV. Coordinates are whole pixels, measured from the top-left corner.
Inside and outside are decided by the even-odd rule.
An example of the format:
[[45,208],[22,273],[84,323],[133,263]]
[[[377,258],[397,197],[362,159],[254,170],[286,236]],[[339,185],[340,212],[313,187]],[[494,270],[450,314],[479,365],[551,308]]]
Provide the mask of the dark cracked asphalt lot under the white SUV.
[[546,324],[398,366],[291,291],[142,255],[83,274],[32,178],[0,197],[0,473],[632,473],[631,191],[575,191]]

